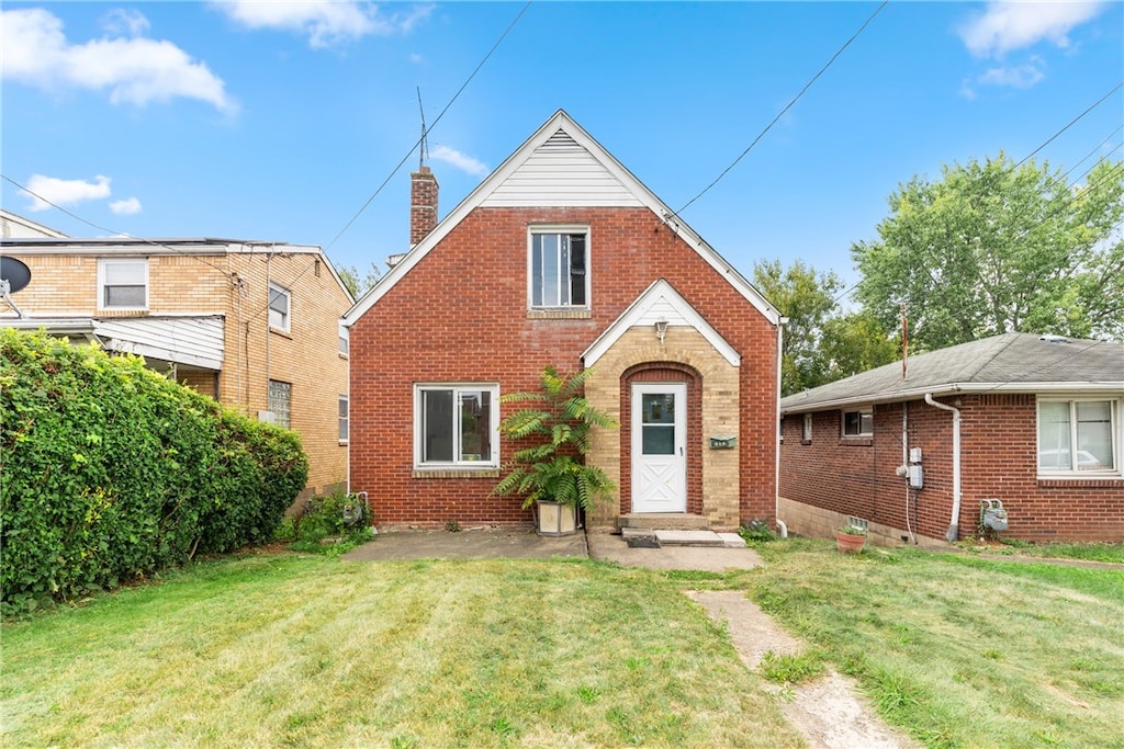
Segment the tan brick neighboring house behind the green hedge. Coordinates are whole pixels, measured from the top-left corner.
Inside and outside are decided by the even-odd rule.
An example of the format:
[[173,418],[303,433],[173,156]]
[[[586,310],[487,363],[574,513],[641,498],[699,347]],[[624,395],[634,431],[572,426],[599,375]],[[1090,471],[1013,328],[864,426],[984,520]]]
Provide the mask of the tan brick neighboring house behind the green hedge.
[[319,247],[232,239],[0,239],[31,271],[0,326],[45,329],[148,366],[301,437],[305,494],[347,481],[354,303]]

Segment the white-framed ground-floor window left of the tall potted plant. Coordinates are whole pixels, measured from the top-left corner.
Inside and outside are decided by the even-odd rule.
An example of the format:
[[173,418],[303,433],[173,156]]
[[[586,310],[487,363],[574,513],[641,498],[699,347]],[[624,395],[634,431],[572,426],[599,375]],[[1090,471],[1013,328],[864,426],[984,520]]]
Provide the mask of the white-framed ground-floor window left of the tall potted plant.
[[414,426],[418,467],[499,465],[498,385],[418,385]]

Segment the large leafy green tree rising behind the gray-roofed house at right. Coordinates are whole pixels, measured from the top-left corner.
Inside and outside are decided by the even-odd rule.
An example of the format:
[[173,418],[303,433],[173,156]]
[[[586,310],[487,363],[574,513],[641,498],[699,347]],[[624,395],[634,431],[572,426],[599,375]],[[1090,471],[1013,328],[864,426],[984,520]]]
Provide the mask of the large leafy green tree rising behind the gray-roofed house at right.
[[1001,153],[915,176],[889,198],[879,238],[852,245],[856,300],[882,329],[908,305],[910,347],[933,350],[1008,332],[1124,334],[1124,166],[1084,184]]

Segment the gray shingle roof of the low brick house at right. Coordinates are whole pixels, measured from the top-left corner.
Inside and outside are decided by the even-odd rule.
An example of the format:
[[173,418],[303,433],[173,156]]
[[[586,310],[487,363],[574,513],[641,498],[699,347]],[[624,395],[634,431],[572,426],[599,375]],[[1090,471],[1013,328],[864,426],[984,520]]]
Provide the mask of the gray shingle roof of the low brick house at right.
[[925,393],[957,392],[1124,392],[1124,345],[1009,332],[912,356],[907,378],[901,363],[795,393],[781,399],[781,413],[850,403],[912,400]]

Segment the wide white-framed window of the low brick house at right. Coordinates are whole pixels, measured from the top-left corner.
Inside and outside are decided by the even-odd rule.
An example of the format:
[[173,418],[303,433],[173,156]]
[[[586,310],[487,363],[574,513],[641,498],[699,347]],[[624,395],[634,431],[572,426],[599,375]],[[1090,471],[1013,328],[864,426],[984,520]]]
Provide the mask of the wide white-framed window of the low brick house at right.
[[1039,400],[1039,474],[1121,475],[1120,400]]

